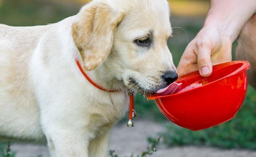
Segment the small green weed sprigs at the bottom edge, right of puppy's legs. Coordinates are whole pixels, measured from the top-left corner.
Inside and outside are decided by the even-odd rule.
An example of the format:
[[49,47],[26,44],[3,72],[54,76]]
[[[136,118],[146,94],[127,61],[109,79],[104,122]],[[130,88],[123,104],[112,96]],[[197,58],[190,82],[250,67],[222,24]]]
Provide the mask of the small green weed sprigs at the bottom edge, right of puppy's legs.
[[[137,155],[137,157],[146,157],[147,155],[152,155],[156,151],[156,146],[159,144],[160,139],[161,139],[161,136],[158,137],[157,139],[149,137],[148,142],[152,143],[152,145],[148,146],[147,150],[143,151],[141,155]],[[110,150],[109,155],[110,157],[118,157],[118,155],[115,154],[114,150]],[[134,157],[134,155],[132,154],[130,157]]]

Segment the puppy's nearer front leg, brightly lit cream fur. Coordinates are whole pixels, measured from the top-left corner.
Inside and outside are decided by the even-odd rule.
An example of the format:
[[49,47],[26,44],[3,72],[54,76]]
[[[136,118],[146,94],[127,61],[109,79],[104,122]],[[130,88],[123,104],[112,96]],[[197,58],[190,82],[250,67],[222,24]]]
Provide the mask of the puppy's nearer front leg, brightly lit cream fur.
[[[83,125],[41,116],[51,157],[88,157],[90,133]],[[72,117],[71,117],[72,118]]]

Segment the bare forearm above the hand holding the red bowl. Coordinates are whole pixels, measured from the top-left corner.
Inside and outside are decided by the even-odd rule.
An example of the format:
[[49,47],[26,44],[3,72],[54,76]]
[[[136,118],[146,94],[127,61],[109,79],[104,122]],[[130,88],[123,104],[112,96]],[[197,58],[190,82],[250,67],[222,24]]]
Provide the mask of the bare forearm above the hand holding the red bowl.
[[234,42],[255,10],[255,0],[211,0],[204,27],[215,27],[218,32],[227,35]]

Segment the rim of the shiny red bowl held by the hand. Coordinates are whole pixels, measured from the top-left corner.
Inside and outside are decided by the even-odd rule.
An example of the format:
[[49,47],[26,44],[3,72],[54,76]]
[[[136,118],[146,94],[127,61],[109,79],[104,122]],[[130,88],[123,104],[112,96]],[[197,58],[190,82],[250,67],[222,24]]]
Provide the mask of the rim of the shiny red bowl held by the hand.
[[[238,74],[238,73],[240,73],[240,72],[242,72],[242,71],[246,71],[246,70],[250,69],[250,63],[249,63],[248,61],[230,61],[230,62],[226,62],[226,63],[221,63],[221,64],[218,64],[218,65],[214,65],[213,68],[222,69],[222,68],[225,68],[225,67],[228,67],[228,66],[231,66],[231,65],[240,64],[240,63],[242,63],[242,65],[241,65],[238,69],[236,69],[235,71],[233,71],[232,73],[230,73],[230,74],[228,74],[228,75],[226,75],[226,76],[224,76],[224,77],[218,78],[218,79],[216,79],[216,80],[214,80],[214,81],[212,81],[212,82],[210,82],[210,83],[208,83],[208,84],[204,84],[204,85],[202,85],[202,86],[198,86],[198,87],[192,88],[192,89],[190,89],[190,90],[185,90],[185,91],[183,91],[183,92],[177,92],[177,93],[175,93],[175,94],[164,95],[164,96],[154,96],[154,95],[148,96],[148,100],[156,100],[156,99],[160,99],[160,98],[166,98],[166,97],[176,96],[176,95],[179,95],[179,94],[183,94],[183,93],[186,93],[186,92],[190,92],[191,90],[196,90],[196,89],[198,89],[198,88],[202,88],[203,86],[208,86],[208,85],[213,84],[213,83],[215,83],[215,82],[217,82],[217,81],[219,81],[219,80],[222,80],[222,79],[227,78],[227,77],[231,77],[231,76],[236,75],[236,74]],[[217,69],[216,69],[216,70],[217,70]],[[215,70],[214,70],[214,71],[215,71]],[[189,74],[187,74],[187,75],[182,76],[181,78],[182,78],[182,79],[189,79],[189,78],[198,77],[198,75],[200,75],[200,74],[199,74],[199,71],[194,71],[194,72],[192,72],[192,73],[189,73]],[[178,82],[181,82],[181,81],[178,81]]]

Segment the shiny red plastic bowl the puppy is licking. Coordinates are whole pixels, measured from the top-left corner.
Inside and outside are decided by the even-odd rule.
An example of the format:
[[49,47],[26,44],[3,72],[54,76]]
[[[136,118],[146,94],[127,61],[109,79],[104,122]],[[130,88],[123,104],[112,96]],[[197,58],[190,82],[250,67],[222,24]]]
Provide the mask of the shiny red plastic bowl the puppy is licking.
[[213,66],[212,75],[201,77],[198,71],[181,77],[179,92],[166,96],[150,96],[161,112],[175,124],[202,130],[235,117],[247,90],[247,61],[232,61]]

